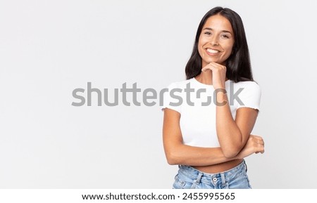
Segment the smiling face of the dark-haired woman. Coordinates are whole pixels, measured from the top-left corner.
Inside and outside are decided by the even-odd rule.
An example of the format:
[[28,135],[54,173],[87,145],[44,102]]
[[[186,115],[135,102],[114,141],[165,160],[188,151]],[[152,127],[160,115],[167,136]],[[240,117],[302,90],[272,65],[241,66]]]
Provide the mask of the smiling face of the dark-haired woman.
[[222,15],[209,17],[198,41],[198,52],[202,59],[202,67],[211,62],[225,65],[229,58],[235,39],[233,39],[232,26]]

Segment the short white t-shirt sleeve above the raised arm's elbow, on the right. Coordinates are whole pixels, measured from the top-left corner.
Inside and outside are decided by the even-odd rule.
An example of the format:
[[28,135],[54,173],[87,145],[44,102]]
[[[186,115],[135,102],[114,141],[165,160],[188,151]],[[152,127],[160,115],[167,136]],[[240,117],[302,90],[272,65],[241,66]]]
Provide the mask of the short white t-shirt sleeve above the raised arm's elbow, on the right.
[[237,109],[240,107],[250,107],[260,110],[261,88],[259,84],[256,84],[254,81],[247,81],[242,88],[241,93],[237,96],[240,98],[239,102],[237,102]]

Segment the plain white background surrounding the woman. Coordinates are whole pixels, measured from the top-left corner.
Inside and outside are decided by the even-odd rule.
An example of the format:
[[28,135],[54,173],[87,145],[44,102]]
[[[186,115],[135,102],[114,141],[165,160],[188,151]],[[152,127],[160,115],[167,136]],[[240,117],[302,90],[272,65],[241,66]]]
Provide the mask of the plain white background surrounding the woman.
[[0,188],[171,188],[159,104],[73,107],[72,91],[185,79],[214,6],[242,17],[262,89],[251,185],[317,188],[317,5],[251,0],[0,1]]

